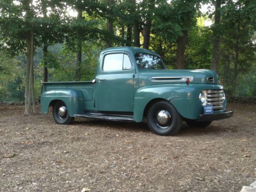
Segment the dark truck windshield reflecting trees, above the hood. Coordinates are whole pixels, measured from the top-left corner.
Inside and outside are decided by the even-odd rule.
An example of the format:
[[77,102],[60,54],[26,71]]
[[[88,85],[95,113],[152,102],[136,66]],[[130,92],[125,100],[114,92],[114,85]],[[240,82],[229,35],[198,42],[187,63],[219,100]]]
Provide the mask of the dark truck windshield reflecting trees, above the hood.
[[161,58],[158,56],[146,53],[136,53],[135,59],[139,69],[165,69]]

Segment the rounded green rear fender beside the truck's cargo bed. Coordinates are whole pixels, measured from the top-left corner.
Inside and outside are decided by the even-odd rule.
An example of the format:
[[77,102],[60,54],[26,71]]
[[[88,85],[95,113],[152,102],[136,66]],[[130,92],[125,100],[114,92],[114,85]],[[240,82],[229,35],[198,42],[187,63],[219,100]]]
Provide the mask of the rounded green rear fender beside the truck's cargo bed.
[[80,90],[60,89],[43,92],[41,94],[41,113],[48,113],[50,103],[54,100],[65,102],[71,117],[83,112],[84,98]]

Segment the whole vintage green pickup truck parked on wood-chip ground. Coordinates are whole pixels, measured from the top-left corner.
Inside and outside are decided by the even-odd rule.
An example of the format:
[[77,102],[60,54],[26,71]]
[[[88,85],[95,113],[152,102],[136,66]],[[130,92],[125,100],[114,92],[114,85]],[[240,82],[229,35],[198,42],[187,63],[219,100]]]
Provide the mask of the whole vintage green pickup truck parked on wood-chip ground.
[[43,82],[41,113],[50,106],[58,124],[75,117],[146,120],[159,135],[176,134],[183,120],[206,127],[233,115],[214,71],[166,70],[158,54],[133,47],[103,50],[92,81]]

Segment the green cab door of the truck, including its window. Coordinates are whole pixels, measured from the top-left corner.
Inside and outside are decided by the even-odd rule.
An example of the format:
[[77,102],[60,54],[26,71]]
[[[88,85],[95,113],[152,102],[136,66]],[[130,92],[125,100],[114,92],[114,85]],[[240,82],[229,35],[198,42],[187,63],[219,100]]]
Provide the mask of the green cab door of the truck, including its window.
[[134,73],[126,53],[103,55],[97,79],[98,110],[132,112],[134,102]]

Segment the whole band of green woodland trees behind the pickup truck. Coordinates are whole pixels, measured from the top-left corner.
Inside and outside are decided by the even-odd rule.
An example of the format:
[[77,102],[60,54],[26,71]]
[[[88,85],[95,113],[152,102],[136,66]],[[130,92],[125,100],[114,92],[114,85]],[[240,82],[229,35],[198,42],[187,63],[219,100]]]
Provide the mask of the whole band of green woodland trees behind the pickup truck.
[[155,51],[168,69],[212,69],[227,95],[256,96],[255,29],[252,0],[0,0],[0,101],[35,112],[41,82],[92,80],[99,53],[119,46]]

